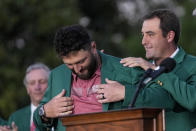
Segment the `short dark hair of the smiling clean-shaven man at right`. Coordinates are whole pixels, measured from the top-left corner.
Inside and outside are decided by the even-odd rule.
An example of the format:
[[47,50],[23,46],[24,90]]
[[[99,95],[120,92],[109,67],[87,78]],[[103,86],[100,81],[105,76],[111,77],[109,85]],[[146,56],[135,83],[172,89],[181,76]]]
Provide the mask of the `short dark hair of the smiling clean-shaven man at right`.
[[163,36],[166,37],[169,31],[175,32],[174,42],[178,43],[180,37],[180,22],[178,17],[168,9],[158,9],[150,14],[143,17],[143,22],[152,18],[160,19],[160,29],[162,30]]

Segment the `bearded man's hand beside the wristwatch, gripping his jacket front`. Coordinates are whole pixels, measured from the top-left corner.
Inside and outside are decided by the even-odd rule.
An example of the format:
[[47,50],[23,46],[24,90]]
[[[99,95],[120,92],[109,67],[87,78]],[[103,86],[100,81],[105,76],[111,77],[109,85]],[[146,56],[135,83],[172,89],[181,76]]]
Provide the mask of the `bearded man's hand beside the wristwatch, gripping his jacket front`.
[[55,96],[52,100],[44,105],[44,111],[46,117],[56,118],[66,116],[72,113],[74,108],[73,99],[71,97],[65,97],[65,90]]

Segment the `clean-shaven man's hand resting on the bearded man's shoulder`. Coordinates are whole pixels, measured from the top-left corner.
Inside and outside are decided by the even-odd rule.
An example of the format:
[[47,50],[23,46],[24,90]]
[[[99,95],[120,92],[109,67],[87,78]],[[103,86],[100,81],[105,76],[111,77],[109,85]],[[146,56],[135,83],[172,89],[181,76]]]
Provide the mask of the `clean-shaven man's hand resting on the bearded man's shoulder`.
[[146,60],[144,60],[143,58],[136,58],[136,57],[127,57],[124,59],[121,59],[120,63],[123,64],[123,66],[127,66],[127,67],[141,67],[144,70],[147,70],[149,68],[151,69],[155,69],[156,66]]

